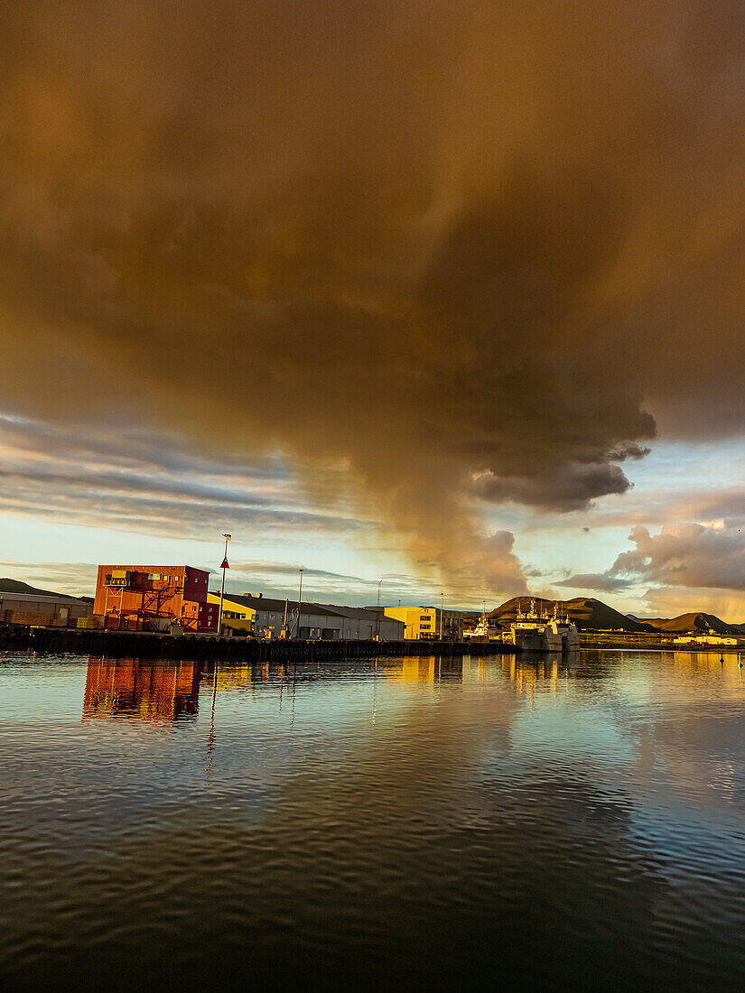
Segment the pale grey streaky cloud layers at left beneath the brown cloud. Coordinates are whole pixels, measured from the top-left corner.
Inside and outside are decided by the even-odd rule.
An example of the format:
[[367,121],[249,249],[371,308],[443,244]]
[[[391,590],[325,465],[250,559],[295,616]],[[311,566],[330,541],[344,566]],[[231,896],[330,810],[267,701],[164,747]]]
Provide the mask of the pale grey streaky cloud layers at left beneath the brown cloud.
[[374,521],[345,509],[310,506],[277,459],[246,467],[178,437],[0,414],[0,512],[185,538],[220,534],[229,521],[246,542],[373,532]]

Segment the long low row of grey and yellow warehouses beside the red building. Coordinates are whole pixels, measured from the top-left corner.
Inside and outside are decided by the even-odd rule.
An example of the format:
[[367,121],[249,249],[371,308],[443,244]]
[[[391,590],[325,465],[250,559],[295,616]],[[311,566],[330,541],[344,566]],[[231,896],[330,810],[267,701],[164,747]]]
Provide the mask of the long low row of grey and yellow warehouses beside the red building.
[[[208,602],[219,609],[220,594],[210,593]],[[360,607],[275,600],[261,594],[240,596],[226,593],[223,628],[234,635],[279,638],[285,625],[290,638],[304,640],[382,641],[403,639],[403,625],[394,619]]]

